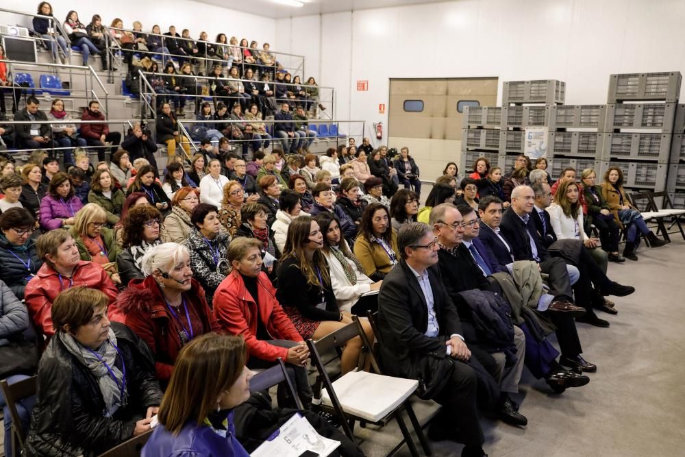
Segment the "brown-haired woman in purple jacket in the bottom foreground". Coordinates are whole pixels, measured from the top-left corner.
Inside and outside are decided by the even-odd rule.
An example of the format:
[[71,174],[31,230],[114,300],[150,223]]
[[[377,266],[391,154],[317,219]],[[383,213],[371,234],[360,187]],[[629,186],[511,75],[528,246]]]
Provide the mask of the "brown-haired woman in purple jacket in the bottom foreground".
[[181,349],[142,457],[249,457],[233,424],[233,408],[250,396],[246,358],[238,336],[206,333]]

